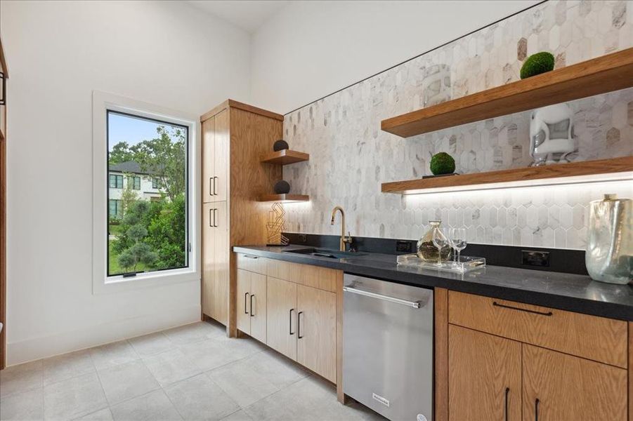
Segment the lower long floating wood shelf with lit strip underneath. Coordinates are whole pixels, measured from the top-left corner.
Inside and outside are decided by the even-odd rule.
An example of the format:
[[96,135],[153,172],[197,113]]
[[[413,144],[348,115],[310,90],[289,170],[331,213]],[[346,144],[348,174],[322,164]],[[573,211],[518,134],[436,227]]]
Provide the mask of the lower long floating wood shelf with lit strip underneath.
[[510,170],[462,174],[453,177],[385,182],[382,184],[382,192],[398,194],[459,192],[463,190],[626,179],[633,180],[633,156],[559,163],[530,168],[512,168]]

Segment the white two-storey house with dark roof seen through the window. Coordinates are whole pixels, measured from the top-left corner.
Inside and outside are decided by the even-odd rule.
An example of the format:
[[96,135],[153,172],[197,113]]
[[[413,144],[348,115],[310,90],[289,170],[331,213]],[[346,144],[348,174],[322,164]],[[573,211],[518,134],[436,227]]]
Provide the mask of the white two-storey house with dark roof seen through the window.
[[125,189],[131,189],[139,200],[160,200],[164,190],[162,180],[152,175],[151,171],[141,170],[141,166],[134,161],[127,161],[111,165],[108,171],[108,202],[107,209],[110,218],[122,218],[122,197]]

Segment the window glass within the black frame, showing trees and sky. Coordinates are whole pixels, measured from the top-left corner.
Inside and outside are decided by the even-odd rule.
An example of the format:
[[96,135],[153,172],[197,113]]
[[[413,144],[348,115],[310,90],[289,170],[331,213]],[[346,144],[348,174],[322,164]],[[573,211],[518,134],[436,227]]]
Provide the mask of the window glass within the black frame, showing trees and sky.
[[187,267],[188,131],[167,121],[107,111],[108,168],[159,173],[166,180],[162,200],[150,201],[134,192],[141,189],[141,177],[129,175],[120,199],[110,201],[110,213],[114,206],[114,215],[123,216],[109,222],[118,228],[108,227],[116,234],[107,239],[107,276]]

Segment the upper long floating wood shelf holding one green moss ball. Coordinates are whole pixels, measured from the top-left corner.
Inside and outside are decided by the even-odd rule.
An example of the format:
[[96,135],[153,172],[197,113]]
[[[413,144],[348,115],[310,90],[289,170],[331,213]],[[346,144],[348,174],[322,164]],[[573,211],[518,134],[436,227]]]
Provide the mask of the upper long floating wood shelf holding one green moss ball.
[[633,48],[381,121],[408,138],[633,86]]

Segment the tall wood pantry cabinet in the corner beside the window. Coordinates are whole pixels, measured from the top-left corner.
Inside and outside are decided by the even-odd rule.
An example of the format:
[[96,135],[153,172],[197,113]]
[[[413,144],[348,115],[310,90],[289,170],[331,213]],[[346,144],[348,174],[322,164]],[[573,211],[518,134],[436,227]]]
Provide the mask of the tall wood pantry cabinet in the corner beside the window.
[[281,179],[281,167],[259,159],[282,138],[283,116],[226,100],[200,121],[202,314],[224,323],[228,334],[235,336],[238,276],[230,250],[266,243],[270,203],[258,202],[257,197],[273,191]]

